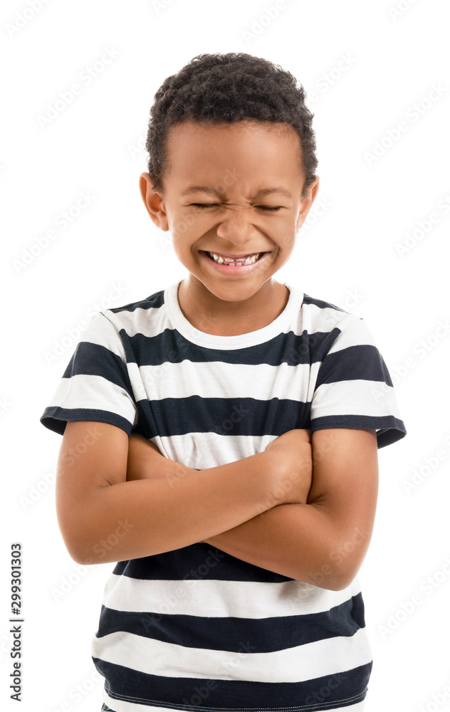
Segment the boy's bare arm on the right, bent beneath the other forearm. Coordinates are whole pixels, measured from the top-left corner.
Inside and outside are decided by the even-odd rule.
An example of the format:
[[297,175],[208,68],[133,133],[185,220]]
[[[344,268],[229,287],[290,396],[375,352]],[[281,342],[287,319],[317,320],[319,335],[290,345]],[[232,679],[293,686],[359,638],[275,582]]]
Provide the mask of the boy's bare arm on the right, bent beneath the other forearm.
[[[378,493],[376,431],[318,430],[311,444],[313,476],[307,501],[275,506],[203,543],[281,575],[342,590],[355,578],[372,537]],[[151,449],[150,456],[163,457],[155,445]],[[164,461],[166,475],[175,476],[179,464]],[[136,473],[133,477],[138,478]]]

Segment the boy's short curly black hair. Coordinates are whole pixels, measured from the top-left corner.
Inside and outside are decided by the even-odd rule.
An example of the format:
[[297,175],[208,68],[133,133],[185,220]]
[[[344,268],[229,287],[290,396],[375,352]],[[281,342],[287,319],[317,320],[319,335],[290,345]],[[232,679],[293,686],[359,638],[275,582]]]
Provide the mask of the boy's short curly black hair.
[[[244,52],[199,54],[164,82],[154,96],[145,147],[147,170],[155,191],[163,194],[169,169],[169,128],[184,120],[283,122],[298,134],[300,169],[305,173],[302,197],[315,182],[313,114],[305,106],[305,90],[288,71]],[[300,152],[299,152],[300,154]]]

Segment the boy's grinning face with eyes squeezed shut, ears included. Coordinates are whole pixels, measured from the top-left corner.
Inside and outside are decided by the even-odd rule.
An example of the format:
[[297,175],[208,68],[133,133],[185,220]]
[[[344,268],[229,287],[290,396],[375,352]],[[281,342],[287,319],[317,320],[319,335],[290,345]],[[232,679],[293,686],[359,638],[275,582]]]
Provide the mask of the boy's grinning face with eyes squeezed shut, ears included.
[[[148,173],[140,176],[140,191],[153,222],[171,231],[189,280],[227,301],[246,300],[265,283],[270,290],[318,192],[319,179],[301,198],[304,175],[295,130],[249,120],[185,121],[169,131],[167,151],[164,196],[153,191]],[[276,191],[264,194],[267,189]],[[263,255],[253,266],[227,266],[207,252],[227,258]]]

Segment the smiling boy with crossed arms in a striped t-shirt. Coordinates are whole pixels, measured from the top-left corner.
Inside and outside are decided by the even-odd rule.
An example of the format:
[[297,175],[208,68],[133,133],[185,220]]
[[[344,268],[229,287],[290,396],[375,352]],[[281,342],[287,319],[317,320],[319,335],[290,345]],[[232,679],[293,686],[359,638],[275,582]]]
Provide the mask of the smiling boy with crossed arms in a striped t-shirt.
[[362,710],[357,572],[406,434],[362,318],[273,276],[318,192],[303,88],[204,54],[155,94],[140,192],[187,277],[95,315],[41,422],[77,562],[117,562],[103,710]]

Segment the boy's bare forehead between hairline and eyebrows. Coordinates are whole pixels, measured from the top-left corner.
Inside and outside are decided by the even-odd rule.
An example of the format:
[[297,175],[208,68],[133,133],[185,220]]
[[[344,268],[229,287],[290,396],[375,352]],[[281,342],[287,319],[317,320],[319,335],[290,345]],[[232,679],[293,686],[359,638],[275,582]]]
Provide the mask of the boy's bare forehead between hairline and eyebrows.
[[169,129],[167,177],[185,182],[210,174],[211,179],[222,180],[228,170],[298,180],[300,152],[298,134],[288,124],[186,120]]

